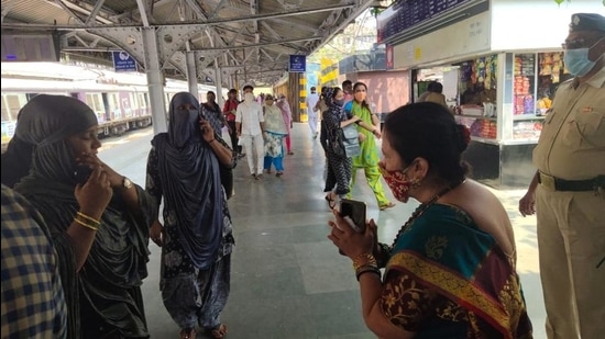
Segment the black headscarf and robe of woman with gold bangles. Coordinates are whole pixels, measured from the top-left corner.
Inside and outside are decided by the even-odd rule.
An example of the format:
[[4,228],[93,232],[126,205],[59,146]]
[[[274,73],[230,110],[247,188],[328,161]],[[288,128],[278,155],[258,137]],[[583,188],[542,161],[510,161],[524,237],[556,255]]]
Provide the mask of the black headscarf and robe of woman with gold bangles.
[[80,305],[95,309],[82,312],[82,317],[94,313],[127,337],[147,336],[143,304],[133,291],[147,275],[148,227],[157,213],[155,201],[136,187],[140,211],[134,215],[114,194],[101,216],[86,263],[76,272],[67,228],[79,204],[74,196],[76,157],[67,138],[96,126],[97,116],[70,97],[37,95],[30,103],[19,117],[19,124],[28,129],[20,131],[19,136],[35,148],[31,171],[15,191],[40,211],[53,236],[69,309],[69,338],[80,337]]

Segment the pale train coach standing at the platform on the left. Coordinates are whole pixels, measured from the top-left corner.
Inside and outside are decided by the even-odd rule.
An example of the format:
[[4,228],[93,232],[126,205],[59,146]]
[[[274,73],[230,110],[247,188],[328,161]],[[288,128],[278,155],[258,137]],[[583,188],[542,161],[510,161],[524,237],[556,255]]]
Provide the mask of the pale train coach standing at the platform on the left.
[[[96,76],[90,77],[86,76],[91,72],[89,69],[55,65],[54,71],[46,69],[33,72],[26,69],[7,70],[8,67],[2,64],[2,149],[14,134],[21,108],[42,93],[70,95],[87,103],[97,115],[100,137],[121,135],[152,124],[144,75],[95,70]],[[205,101],[206,93],[216,91],[216,87],[198,84],[198,99]],[[186,81],[167,79],[164,87],[166,105],[174,94],[182,91],[188,91]]]

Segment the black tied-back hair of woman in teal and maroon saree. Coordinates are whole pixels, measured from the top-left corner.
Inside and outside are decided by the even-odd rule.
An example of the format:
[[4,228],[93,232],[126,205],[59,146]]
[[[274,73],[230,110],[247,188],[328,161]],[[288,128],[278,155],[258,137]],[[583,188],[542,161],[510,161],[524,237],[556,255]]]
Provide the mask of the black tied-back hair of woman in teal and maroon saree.
[[462,161],[462,152],[470,142],[466,126],[457,124],[442,105],[419,102],[403,105],[387,114],[385,137],[406,166],[416,158],[429,162],[428,176],[448,183],[464,180],[470,166]]

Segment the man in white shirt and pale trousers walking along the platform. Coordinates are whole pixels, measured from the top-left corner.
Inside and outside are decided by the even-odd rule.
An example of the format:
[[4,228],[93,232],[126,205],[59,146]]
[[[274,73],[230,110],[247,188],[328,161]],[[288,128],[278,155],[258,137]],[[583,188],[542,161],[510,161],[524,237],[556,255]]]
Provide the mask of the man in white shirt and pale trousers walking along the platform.
[[[238,105],[235,111],[235,129],[238,137],[242,140],[246,150],[248,167],[254,179],[263,179],[263,160],[265,157],[264,132],[265,118],[263,108],[254,101],[252,91],[254,88],[250,84],[244,86],[244,101]],[[254,148],[252,148],[254,144]],[[254,159],[256,163],[254,163]]]

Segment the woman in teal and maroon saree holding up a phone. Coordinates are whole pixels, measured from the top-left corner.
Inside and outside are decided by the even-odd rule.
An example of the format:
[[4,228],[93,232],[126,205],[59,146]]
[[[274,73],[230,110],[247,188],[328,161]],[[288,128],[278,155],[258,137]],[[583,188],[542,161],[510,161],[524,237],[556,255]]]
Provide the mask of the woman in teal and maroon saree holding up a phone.
[[381,171],[397,200],[421,204],[391,246],[377,242],[373,221],[362,234],[338,213],[330,222],[328,238],[352,259],[364,320],[380,338],[532,338],[508,215],[465,179],[469,139],[439,104],[397,109]]

